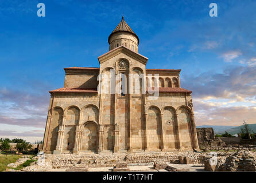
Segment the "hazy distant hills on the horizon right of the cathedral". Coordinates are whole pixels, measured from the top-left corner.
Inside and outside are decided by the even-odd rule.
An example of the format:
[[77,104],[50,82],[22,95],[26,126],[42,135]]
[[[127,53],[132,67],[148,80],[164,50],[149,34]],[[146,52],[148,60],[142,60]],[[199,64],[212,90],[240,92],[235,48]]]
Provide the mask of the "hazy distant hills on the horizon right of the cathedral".
[[[249,128],[256,133],[256,124],[248,124]],[[238,134],[241,131],[241,128],[243,128],[243,125],[241,126],[215,126],[215,125],[201,125],[196,126],[196,128],[213,128],[215,134],[223,134],[225,131],[228,133],[234,135]]]

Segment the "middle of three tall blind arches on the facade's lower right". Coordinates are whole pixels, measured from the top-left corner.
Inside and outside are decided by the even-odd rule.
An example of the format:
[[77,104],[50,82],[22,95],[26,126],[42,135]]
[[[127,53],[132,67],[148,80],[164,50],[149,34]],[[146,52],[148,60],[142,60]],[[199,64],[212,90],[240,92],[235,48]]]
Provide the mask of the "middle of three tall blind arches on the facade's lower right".
[[176,110],[172,106],[162,108],[165,131],[165,148],[179,149],[179,130],[176,120]]

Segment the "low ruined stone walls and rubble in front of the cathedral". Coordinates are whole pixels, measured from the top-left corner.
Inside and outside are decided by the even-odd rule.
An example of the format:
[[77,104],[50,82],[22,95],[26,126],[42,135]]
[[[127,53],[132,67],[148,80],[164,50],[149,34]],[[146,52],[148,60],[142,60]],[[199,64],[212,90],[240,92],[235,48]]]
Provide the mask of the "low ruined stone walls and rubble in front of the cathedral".
[[[255,152],[216,152],[217,165],[210,165],[209,153],[194,152],[157,152],[157,153],[126,153],[126,154],[46,154],[45,165],[30,165],[21,171],[44,172],[52,169],[68,169],[67,171],[87,171],[88,168],[114,167],[129,171],[129,166],[154,165],[155,169],[166,169],[170,164],[204,164],[207,171],[255,171]],[[37,160],[38,157],[34,157]],[[20,160],[19,162],[25,162]],[[14,164],[16,164],[15,162]],[[18,164],[18,163],[17,163]],[[164,166],[162,166],[164,165]],[[161,166],[161,167],[160,167]],[[166,169],[167,170],[167,169]],[[168,171],[185,171],[169,168]]]

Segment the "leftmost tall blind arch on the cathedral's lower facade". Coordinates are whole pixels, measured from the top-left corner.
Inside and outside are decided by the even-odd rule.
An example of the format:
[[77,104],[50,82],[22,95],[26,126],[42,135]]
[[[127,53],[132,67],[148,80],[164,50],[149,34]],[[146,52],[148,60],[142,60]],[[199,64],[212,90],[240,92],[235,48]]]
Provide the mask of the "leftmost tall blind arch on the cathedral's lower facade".
[[[51,111],[50,111],[51,113]],[[58,140],[58,131],[59,125],[63,123],[63,108],[56,106],[52,110],[52,121],[49,129],[49,138],[48,138],[48,146],[46,150],[53,151],[56,149],[57,140]]]

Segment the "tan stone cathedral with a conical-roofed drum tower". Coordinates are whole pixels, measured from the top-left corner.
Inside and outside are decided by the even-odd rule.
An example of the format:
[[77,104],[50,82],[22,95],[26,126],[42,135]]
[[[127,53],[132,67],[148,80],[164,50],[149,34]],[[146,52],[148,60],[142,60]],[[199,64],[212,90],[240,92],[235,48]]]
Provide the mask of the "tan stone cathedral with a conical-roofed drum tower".
[[[148,58],[139,54],[139,38],[123,18],[108,43],[109,51],[98,57],[99,67],[64,68],[64,87],[49,92],[44,151],[83,154],[198,149],[192,92],[180,87],[181,70],[146,69]],[[135,81],[139,83],[137,92],[127,92],[136,90]],[[103,88],[105,92],[100,92]]]

